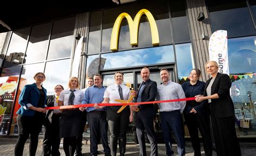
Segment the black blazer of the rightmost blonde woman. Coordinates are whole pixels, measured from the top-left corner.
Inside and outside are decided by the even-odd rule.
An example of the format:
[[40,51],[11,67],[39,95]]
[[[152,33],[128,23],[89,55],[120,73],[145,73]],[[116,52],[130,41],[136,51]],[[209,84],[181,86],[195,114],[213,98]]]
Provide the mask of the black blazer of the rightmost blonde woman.
[[[208,79],[205,85],[204,96],[207,96],[206,88],[210,83]],[[211,88],[211,95],[217,93],[218,99],[211,99],[211,105],[207,105],[212,115],[218,118],[234,116],[234,104],[230,97],[231,81],[227,74],[218,73]]]

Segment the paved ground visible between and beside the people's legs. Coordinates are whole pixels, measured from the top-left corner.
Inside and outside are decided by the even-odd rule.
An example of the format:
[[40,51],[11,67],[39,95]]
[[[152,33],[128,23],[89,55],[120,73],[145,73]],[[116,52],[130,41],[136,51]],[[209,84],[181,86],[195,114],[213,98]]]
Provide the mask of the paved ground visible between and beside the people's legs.
[[[15,147],[15,143],[17,141],[17,138],[6,138],[6,137],[0,137],[0,155],[14,155],[14,147]],[[90,155],[90,142],[84,140],[83,141],[83,155]],[[256,156],[256,143],[244,143],[241,142],[241,151],[242,151],[242,155],[246,155],[246,156]],[[62,147],[60,147],[60,152],[62,153],[62,155],[65,155]],[[27,141],[27,143],[25,144],[24,147],[24,154],[23,155],[29,155],[29,141]],[[147,155],[150,155],[150,145],[147,145],[146,147],[147,150]],[[174,145],[173,148],[174,152],[177,154],[177,145]],[[103,147],[102,145],[99,145],[99,155],[104,155],[103,153]],[[164,144],[158,144],[158,155],[159,156],[163,156],[165,155],[165,145]],[[202,155],[204,154],[204,150],[203,148],[201,148],[201,153]],[[37,155],[41,155],[42,154],[42,139],[39,139],[39,143],[38,143],[38,148],[37,148]],[[134,144],[128,144],[126,146],[126,153],[125,155],[127,156],[137,156],[139,155],[139,146],[138,145],[134,145]],[[190,141],[186,141],[186,155],[193,155],[193,149],[191,147],[191,143]],[[213,155],[216,155],[215,152],[213,152]],[[229,156],[229,155],[227,155]],[[231,155],[230,155],[231,156]]]

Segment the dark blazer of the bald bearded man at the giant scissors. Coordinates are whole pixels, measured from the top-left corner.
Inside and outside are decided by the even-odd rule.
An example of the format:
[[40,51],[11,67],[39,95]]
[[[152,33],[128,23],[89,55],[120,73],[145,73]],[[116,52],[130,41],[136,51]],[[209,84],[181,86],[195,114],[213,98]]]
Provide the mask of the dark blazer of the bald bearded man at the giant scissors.
[[[139,86],[142,87],[142,84]],[[139,93],[138,90],[138,93]],[[145,87],[143,88],[142,92],[142,102],[147,102],[147,101],[154,101],[156,99],[157,95],[157,83],[152,81],[152,80],[147,80]],[[134,102],[137,102],[137,97],[134,98]],[[146,105],[140,105],[140,110],[139,113],[142,113],[143,116],[146,117],[154,117],[156,116],[156,109],[154,108],[154,104],[146,104]]]

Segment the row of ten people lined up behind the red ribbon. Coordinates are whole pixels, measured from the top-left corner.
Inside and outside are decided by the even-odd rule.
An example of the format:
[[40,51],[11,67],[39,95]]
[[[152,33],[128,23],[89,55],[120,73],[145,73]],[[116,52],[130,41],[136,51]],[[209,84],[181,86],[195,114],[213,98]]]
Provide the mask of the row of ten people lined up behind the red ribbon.
[[[126,151],[126,130],[129,122],[133,121],[136,113],[136,134],[139,142],[139,155],[146,155],[144,131],[150,141],[151,154],[158,155],[157,139],[154,132],[153,119],[156,116],[154,104],[143,104],[146,101],[170,100],[196,97],[192,101],[176,101],[158,103],[161,128],[166,146],[166,155],[173,155],[173,139],[171,131],[177,139],[178,155],[185,155],[185,139],[183,119],[187,124],[191,136],[194,155],[201,155],[198,129],[201,133],[205,155],[212,155],[212,137],[210,120],[217,155],[241,155],[240,146],[235,132],[234,105],[230,97],[231,81],[227,74],[218,72],[218,64],[209,61],[205,65],[211,78],[206,83],[199,80],[201,71],[192,69],[190,81],[182,85],[170,79],[167,69],[160,70],[163,84],[150,79],[150,70],[144,67],[140,71],[143,79],[137,92],[123,85],[124,74],[114,74],[114,84],[107,88],[103,86],[103,78],[95,74],[87,78],[87,87],[79,90],[78,78],[71,77],[69,89],[64,90],[62,85],[55,86],[55,95],[46,96],[42,86],[45,75],[36,73],[36,83],[26,85],[19,97],[17,123],[19,137],[15,147],[15,155],[23,155],[25,141],[30,135],[30,155],[36,154],[38,135],[44,124],[44,155],[60,155],[58,148],[60,138],[63,138],[63,148],[66,155],[82,154],[82,138],[86,121],[90,127],[90,153],[98,155],[98,143],[104,148],[105,155],[117,155],[119,145],[120,155]],[[121,106],[102,106],[100,103],[119,103],[116,99],[128,100],[134,96],[137,105],[130,105],[118,113]],[[45,110],[46,106],[63,106],[94,104],[94,107],[79,107],[63,111]],[[45,114],[46,113],[46,114]],[[49,119],[48,122],[45,122]],[[110,141],[107,140],[109,128]]]

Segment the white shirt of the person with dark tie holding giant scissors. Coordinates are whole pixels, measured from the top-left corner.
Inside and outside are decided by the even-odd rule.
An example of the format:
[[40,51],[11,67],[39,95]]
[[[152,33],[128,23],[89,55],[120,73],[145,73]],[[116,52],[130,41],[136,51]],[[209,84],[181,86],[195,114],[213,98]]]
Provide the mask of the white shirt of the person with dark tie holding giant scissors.
[[[123,98],[124,100],[128,100],[130,97],[130,88],[121,84],[120,85],[123,91]],[[118,85],[113,84],[107,87],[104,93],[104,98],[109,98],[109,103],[116,103],[119,104],[115,99],[120,99],[119,92],[118,92]]]

